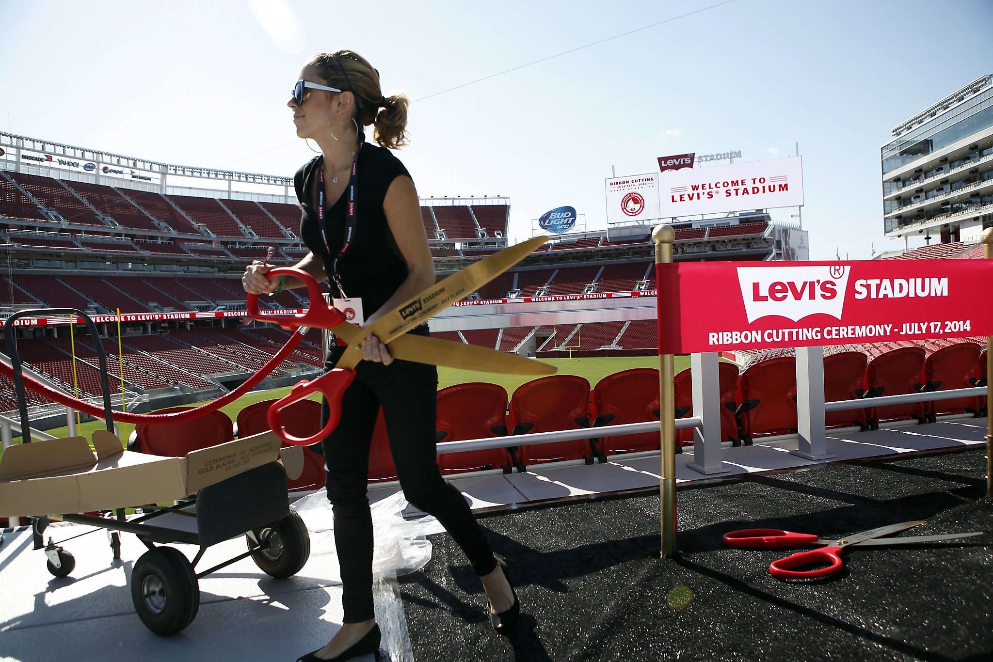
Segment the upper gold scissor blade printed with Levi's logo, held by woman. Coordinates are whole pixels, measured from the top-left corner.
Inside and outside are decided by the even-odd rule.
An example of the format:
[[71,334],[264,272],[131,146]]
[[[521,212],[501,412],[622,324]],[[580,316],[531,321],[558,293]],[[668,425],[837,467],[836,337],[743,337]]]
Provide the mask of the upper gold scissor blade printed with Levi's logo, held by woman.
[[[438,315],[452,304],[462,301],[473,292],[476,292],[497,278],[501,273],[530,255],[535,248],[543,244],[547,239],[545,236],[531,237],[527,241],[522,241],[509,248],[504,248],[498,253],[483,258],[479,262],[474,262],[465,269],[452,274],[439,283],[435,283],[416,297],[401,304],[376,320],[371,326],[362,328],[357,337],[363,338],[368,333],[374,333],[380,342],[389,343],[398,335],[410,331],[422,322]],[[338,333],[339,329],[345,326],[346,324],[343,323],[335,327],[334,331]],[[345,331],[341,335],[349,342],[349,348],[338,359],[335,367],[354,368],[358,364],[358,361],[362,359],[360,341],[349,339],[349,336],[353,335],[351,331]]]

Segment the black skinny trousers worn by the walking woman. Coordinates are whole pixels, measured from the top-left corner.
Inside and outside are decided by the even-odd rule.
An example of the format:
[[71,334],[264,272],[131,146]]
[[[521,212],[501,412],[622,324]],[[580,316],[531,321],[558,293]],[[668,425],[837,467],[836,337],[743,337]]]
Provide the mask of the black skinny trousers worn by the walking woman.
[[[417,332],[410,331],[410,332]],[[424,334],[427,334],[426,332]],[[332,347],[330,368],[344,347]],[[389,365],[361,361],[342,398],[342,419],[323,442],[328,499],[335,515],[335,544],[342,569],[344,622],[374,616],[372,609],[372,517],[366,496],[369,446],[382,405],[389,446],[407,501],[434,515],[465,552],[477,575],[497,567],[490,543],[458,489],[441,477],[435,456],[438,370],[395,359]],[[327,421],[328,403],[324,403]],[[322,422],[323,424],[323,422]]]

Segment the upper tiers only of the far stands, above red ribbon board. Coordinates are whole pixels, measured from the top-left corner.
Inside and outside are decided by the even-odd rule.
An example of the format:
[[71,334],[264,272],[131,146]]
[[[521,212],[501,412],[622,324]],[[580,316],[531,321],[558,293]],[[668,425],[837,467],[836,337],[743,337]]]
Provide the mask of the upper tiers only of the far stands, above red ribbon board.
[[[289,178],[162,164],[0,133],[0,245],[8,276],[0,307],[73,306],[103,313],[234,305],[240,288],[229,278],[246,261],[264,256],[269,246],[277,262],[306,253],[297,236],[299,209],[291,185]],[[507,245],[507,199],[422,202],[440,274]],[[644,289],[649,230],[553,237],[509,280],[479,296],[518,294],[531,281],[541,294]],[[729,216],[718,226],[682,223],[676,259],[777,259],[788,253],[782,230],[762,212]],[[598,263],[603,268],[592,270]],[[585,269],[573,268],[579,264]],[[629,271],[640,271],[642,278],[628,283]],[[302,303],[287,293],[275,305]]]

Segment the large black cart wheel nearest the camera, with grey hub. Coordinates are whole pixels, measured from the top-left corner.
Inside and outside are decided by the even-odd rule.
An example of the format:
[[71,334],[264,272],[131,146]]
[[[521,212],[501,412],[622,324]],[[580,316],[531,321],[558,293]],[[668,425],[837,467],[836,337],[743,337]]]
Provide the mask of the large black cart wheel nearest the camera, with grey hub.
[[141,622],[156,634],[176,634],[200,609],[200,586],[193,566],[172,547],[141,555],[131,573],[131,601]]

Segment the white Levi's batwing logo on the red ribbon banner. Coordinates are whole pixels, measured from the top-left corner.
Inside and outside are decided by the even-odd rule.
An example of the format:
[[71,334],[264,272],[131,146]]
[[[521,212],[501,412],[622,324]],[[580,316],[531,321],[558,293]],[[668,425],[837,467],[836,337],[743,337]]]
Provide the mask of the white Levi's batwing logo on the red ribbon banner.
[[808,315],[841,319],[849,266],[739,267],[749,324],[768,316],[799,322]]

